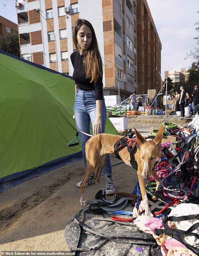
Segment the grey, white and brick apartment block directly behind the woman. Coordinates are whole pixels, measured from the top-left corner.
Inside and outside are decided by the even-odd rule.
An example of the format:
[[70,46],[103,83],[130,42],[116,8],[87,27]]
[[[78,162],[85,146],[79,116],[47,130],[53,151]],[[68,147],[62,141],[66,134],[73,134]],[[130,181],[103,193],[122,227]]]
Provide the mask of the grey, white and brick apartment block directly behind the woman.
[[22,58],[72,75],[72,28],[77,19],[88,19],[104,64],[104,95],[118,94],[119,89],[123,98],[140,92],[136,0],[16,1]]

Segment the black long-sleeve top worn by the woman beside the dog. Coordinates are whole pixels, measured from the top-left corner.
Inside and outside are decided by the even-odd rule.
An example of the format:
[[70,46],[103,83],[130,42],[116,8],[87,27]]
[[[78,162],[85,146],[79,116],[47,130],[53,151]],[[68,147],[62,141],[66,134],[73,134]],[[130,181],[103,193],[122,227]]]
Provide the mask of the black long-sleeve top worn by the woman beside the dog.
[[103,99],[103,82],[100,77],[97,82],[90,83],[91,79],[86,78],[86,74],[83,68],[84,55],[80,55],[78,51],[71,54],[71,62],[73,64],[74,72],[73,79],[75,84],[80,90],[91,91],[95,90],[95,100]]

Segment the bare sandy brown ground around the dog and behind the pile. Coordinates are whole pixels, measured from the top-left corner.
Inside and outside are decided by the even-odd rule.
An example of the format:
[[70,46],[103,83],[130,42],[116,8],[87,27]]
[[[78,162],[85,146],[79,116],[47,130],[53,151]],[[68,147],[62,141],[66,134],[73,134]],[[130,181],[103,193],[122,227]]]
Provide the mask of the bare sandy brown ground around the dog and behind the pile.
[[[158,128],[165,118],[128,118],[128,127],[136,127],[143,136]],[[166,119],[185,126],[190,120]],[[121,162],[111,156],[111,163]],[[62,166],[0,193],[0,251],[68,251],[64,239],[67,220],[81,208],[79,188],[84,176],[83,160]],[[137,173],[120,164],[113,167],[116,192],[132,192]],[[105,187],[105,177],[100,180]],[[85,188],[85,199],[92,201],[98,187]]]

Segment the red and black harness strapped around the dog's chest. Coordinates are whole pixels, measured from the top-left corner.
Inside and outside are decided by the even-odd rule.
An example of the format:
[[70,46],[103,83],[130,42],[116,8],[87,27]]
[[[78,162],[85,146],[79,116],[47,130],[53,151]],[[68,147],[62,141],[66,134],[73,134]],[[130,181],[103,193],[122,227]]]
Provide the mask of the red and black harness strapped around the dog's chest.
[[120,148],[125,147],[125,146],[127,146],[128,152],[130,154],[130,158],[131,158],[130,164],[132,165],[132,167],[134,169],[137,170],[137,162],[135,159],[133,159],[133,151],[134,151],[135,147],[137,147],[139,149],[138,144],[137,144],[137,138],[136,137],[131,138],[129,136],[125,136],[125,137],[119,139],[114,145],[114,156],[116,158],[122,160],[121,157],[117,154],[117,151]]

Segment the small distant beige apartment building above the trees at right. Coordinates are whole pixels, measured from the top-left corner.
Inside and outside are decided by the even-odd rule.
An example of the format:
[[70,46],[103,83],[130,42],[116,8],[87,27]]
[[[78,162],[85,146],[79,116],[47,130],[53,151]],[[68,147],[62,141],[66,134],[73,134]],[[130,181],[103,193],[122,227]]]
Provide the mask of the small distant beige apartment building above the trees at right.
[[180,82],[180,81],[187,81],[189,72],[186,70],[186,68],[180,68],[180,70],[168,70],[165,71],[165,79],[168,77],[173,80],[174,83]]

